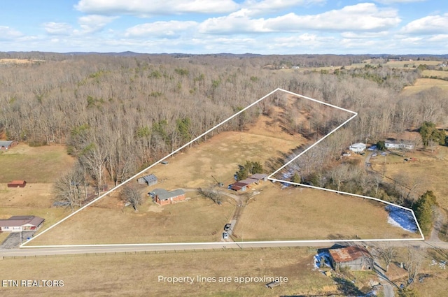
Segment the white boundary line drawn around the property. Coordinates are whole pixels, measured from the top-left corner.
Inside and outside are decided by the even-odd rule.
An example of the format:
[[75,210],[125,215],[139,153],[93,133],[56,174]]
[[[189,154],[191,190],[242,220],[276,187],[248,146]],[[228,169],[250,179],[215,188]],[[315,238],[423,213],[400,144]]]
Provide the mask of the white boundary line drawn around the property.
[[[316,99],[312,99],[309,98],[307,96],[302,96],[300,94],[295,94],[293,92],[289,92],[286,91],[284,89],[280,89],[280,88],[276,88],[274,89],[274,91],[269,92],[268,94],[266,94],[265,96],[262,96],[260,99],[258,99],[257,101],[249,104],[248,106],[246,106],[246,108],[243,108],[242,110],[240,110],[238,113],[235,113],[235,115],[232,115],[230,117],[228,117],[228,119],[225,119],[223,122],[221,122],[220,124],[217,124],[216,126],[214,126],[213,128],[205,131],[204,133],[202,133],[200,136],[197,136],[197,138],[190,140],[190,142],[186,143],[185,145],[179,147],[177,150],[174,150],[174,152],[172,152],[171,154],[168,154],[166,157],[163,157],[162,159],[160,159],[159,161],[156,161],[154,164],[152,164],[151,166],[148,166],[147,168],[145,168],[144,170],[140,171],[139,173],[133,175],[131,178],[125,180],[124,182],[122,182],[121,184],[118,184],[116,187],[113,187],[112,189],[110,189],[109,191],[106,191],[104,194],[100,195],[98,198],[95,198],[93,201],[91,201],[90,203],[87,203],[86,205],[84,205],[82,208],[80,208],[79,210],[76,210],[75,212],[72,212],[70,215],[64,217],[63,219],[61,219],[59,222],[56,222],[55,224],[53,224],[52,226],[48,227],[48,229],[45,229],[44,231],[42,231],[41,233],[38,233],[38,235],[36,235],[35,237],[31,238],[30,240],[28,240],[27,242],[24,242],[20,245],[20,247],[28,247],[28,248],[36,248],[36,247],[117,247],[117,246],[138,246],[138,245],[146,245],[146,246],[151,246],[151,245],[193,245],[194,243],[192,242],[179,242],[179,243],[141,243],[141,244],[110,244],[110,245],[39,245],[39,246],[26,246],[27,243],[31,242],[32,240],[34,240],[35,238],[38,238],[39,236],[41,236],[42,234],[44,234],[47,231],[50,231],[51,229],[53,229],[55,226],[61,224],[62,222],[66,221],[66,219],[69,219],[70,217],[73,217],[73,215],[76,215],[78,212],[80,212],[81,210],[84,210],[85,208],[87,208],[88,206],[92,205],[93,203],[99,201],[99,199],[104,198],[104,196],[107,196],[108,194],[110,194],[113,191],[116,191],[116,189],[118,189],[119,187],[123,186],[124,184],[127,184],[127,182],[130,182],[131,180],[134,180],[134,178],[137,178],[139,175],[141,175],[142,173],[144,173],[145,171],[147,171],[148,169],[152,168],[153,166],[159,164],[161,161],[167,159],[168,157],[171,157],[173,154],[176,154],[176,152],[179,152],[180,150],[182,150],[184,147],[187,147],[188,145],[190,145],[191,143],[194,143],[196,140],[202,138],[202,136],[205,136],[207,133],[213,131],[214,129],[218,128],[218,126],[221,126],[223,124],[225,124],[226,122],[230,121],[230,119],[233,119],[234,117],[237,117],[239,114],[244,113],[245,110],[247,110],[248,108],[251,108],[252,106],[254,106],[255,104],[259,103],[260,101],[266,99],[268,96],[274,94],[277,91],[281,91],[281,92],[286,92],[288,94],[293,94],[294,96],[299,96],[300,98],[304,98],[304,99],[308,99],[310,101],[314,101],[317,103],[321,103],[325,106],[330,106],[332,108],[337,108],[339,110],[344,110],[348,113],[353,113],[353,116],[350,117],[349,119],[347,119],[344,123],[340,124],[339,126],[337,126],[336,129],[330,131],[330,133],[328,133],[327,135],[323,136],[323,138],[321,138],[320,140],[318,140],[316,143],[314,143],[313,145],[311,145],[310,147],[307,148],[307,150],[304,150],[301,154],[299,154],[297,157],[293,158],[292,160],[290,160],[288,163],[286,163],[285,165],[281,166],[281,168],[279,168],[277,171],[275,171],[274,173],[272,173],[271,175],[269,175],[269,180],[274,180],[272,178],[270,178],[272,175],[274,175],[275,173],[277,173],[278,171],[280,171],[281,169],[283,169],[285,166],[287,166],[288,164],[290,164],[292,161],[294,161],[295,159],[297,159],[298,157],[300,157],[302,154],[304,154],[304,152],[307,152],[308,150],[311,149],[311,147],[314,147],[314,145],[317,145],[318,143],[320,143],[323,139],[327,138],[331,133],[333,133],[334,131],[336,131],[337,129],[341,128],[342,126],[344,126],[344,124],[346,124],[347,122],[351,121],[351,119],[353,119],[354,117],[356,117],[358,115],[358,113],[355,113],[351,110],[346,110],[345,108],[340,108],[339,106],[334,106],[330,103],[325,103],[323,101],[318,101]],[[279,180],[280,181],[280,180]],[[281,182],[286,182],[286,181],[281,181]],[[297,184],[297,185],[302,185],[304,187],[310,187],[304,184]],[[324,188],[317,188],[316,189],[323,189],[323,190],[328,190],[328,189],[324,189]],[[349,195],[353,195],[355,196],[355,194],[349,194]],[[372,197],[367,197],[365,196],[364,198],[372,198]],[[386,201],[382,201],[382,202],[386,202]],[[391,203],[392,204],[392,203]],[[399,205],[395,205],[400,207]],[[403,208],[403,207],[401,207]],[[407,209],[407,208],[405,208]],[[412,210],[411,210],[412,211]],[[414,215],[414,212],[412,212],[412,215]],[[416,217],[414,215],[414,219],[416,221]],[[419,227],[419,231],[421,233],[421,229],[419,226],[419,223],[416,221],[417,226]],[[423,237],[423,233],[421,233],[422,236],[422,240],[424,240]],[[372,240],[336,240],[336,241],[347,241],[347,242],[366,242],[366,241],[400,241],[400,240],[416,240],[414,238],[399,238],[399,239],[372,239]],[[417,239],[420,240],[420,239]],[[260,241],[258,243],[300,243],[300,242],[335,242],[335,240],[293,240],[293,241]],[[196,244],[216,244],[219,242],[197,242]],[[238,242],[240,243],[240,242]],[[242,242],[244,243],[244,242]],[[251,242],[247,242],[247,243],[251,243]],[[254,243],[254,242],[252,242]]]

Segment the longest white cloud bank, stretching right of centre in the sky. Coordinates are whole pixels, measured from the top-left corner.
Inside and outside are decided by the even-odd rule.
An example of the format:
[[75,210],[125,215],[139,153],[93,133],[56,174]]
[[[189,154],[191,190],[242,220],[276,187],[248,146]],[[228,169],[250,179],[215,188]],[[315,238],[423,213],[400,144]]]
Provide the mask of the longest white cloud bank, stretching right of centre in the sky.
[[400,23],[397,11],[377,8],[373,3],[359,3],[318,15],[288,13],[279,17],[251,19],[247,10],[225,17],[213,17],[200,25],[204,34],[241,32],[297,32],[304,29],[325,31],[382,31]]

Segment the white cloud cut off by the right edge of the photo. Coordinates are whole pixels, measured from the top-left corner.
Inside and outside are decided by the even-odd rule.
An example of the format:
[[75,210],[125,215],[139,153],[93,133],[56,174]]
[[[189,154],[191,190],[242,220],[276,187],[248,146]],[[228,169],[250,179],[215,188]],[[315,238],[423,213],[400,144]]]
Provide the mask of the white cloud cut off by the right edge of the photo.
[[430,15],[409,22],[402,28],[405,34],[444,34],[448,28],[448,13],[444,15]]

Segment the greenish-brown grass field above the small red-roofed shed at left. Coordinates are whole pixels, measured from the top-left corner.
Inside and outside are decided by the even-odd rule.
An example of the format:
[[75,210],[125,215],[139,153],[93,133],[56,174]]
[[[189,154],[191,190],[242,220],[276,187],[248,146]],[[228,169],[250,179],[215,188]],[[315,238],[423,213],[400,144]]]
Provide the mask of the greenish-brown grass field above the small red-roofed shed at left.
[[27,182],[55,182],[73,166],[75,159],[62,145],[29,147],[23,143],[0,152],[0,183],[11,180]]

